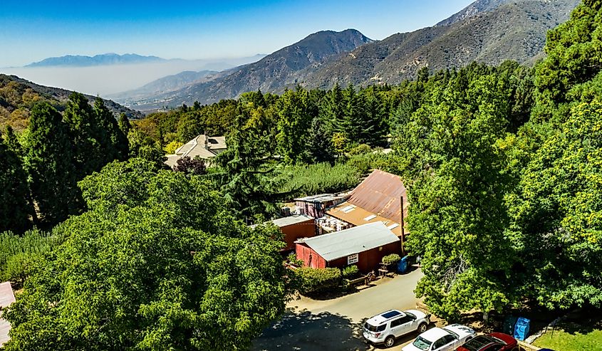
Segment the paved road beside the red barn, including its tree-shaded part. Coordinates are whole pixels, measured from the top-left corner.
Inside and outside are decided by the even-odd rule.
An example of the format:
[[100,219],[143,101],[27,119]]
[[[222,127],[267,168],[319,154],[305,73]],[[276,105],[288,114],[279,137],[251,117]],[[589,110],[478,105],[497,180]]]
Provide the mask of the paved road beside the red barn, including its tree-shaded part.
[[[289,313],[264,330],[252,350],[375,350],[361,336],[363,320],[393,308],[415,308],[417,300],[413,290],[420,278],[422,272],[412,271],[395,278],[383,278],[375,286],[333,300],[294,300],[289,303]],[[388,350],[401,350],[414,338],[415,335],[408,335]]]

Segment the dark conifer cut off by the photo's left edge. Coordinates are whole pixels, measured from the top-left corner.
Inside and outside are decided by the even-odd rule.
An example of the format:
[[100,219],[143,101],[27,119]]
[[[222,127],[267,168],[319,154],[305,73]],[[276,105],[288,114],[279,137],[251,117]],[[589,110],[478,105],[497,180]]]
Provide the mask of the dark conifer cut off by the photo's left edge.
[[31,224],[29,216],[33,215],[33,208],[23,164],[8,143],[7,136],[0,142],[0,232],[21,234]]

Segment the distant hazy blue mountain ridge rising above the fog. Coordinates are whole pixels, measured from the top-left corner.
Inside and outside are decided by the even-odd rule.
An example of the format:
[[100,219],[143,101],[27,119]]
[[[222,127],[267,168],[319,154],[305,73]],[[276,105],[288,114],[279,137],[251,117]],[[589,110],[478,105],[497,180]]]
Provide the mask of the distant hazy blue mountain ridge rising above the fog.
[[108,66],[108,65],[126,65],[133,63],[155,63],[167,61],[157,56],[140,56],[135,53],[126,53],[118,55],[116,53],[103,53],[96,56],[67,55],[61,57],[45,58],[42,61],[30,63],[25,67],[51,67],[51,66],[72,66],[72,67],[90,67],[90,66]]

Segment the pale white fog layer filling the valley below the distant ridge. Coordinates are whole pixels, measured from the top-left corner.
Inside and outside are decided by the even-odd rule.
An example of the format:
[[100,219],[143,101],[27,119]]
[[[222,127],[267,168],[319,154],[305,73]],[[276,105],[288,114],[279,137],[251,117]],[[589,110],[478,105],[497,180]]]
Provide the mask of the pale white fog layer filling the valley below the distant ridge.
[[94,67],[0,68],[0,73],[17,75],[31,82],[55,88],[75,90],[90,95],[122,93],[185,70],[225,70],[259,61],[263,56],[224,58],[220,60],[170,60]]

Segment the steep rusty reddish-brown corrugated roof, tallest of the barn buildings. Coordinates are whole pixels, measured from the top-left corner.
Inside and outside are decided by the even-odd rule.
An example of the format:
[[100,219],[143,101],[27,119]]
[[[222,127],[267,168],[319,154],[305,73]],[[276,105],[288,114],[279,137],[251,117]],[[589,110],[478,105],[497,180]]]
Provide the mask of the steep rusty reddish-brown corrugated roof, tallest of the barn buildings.
[[401,178],[377,169],[353,189],[347,202],[401,223],[402,199],[405,218],[408,216],[408,195]]

